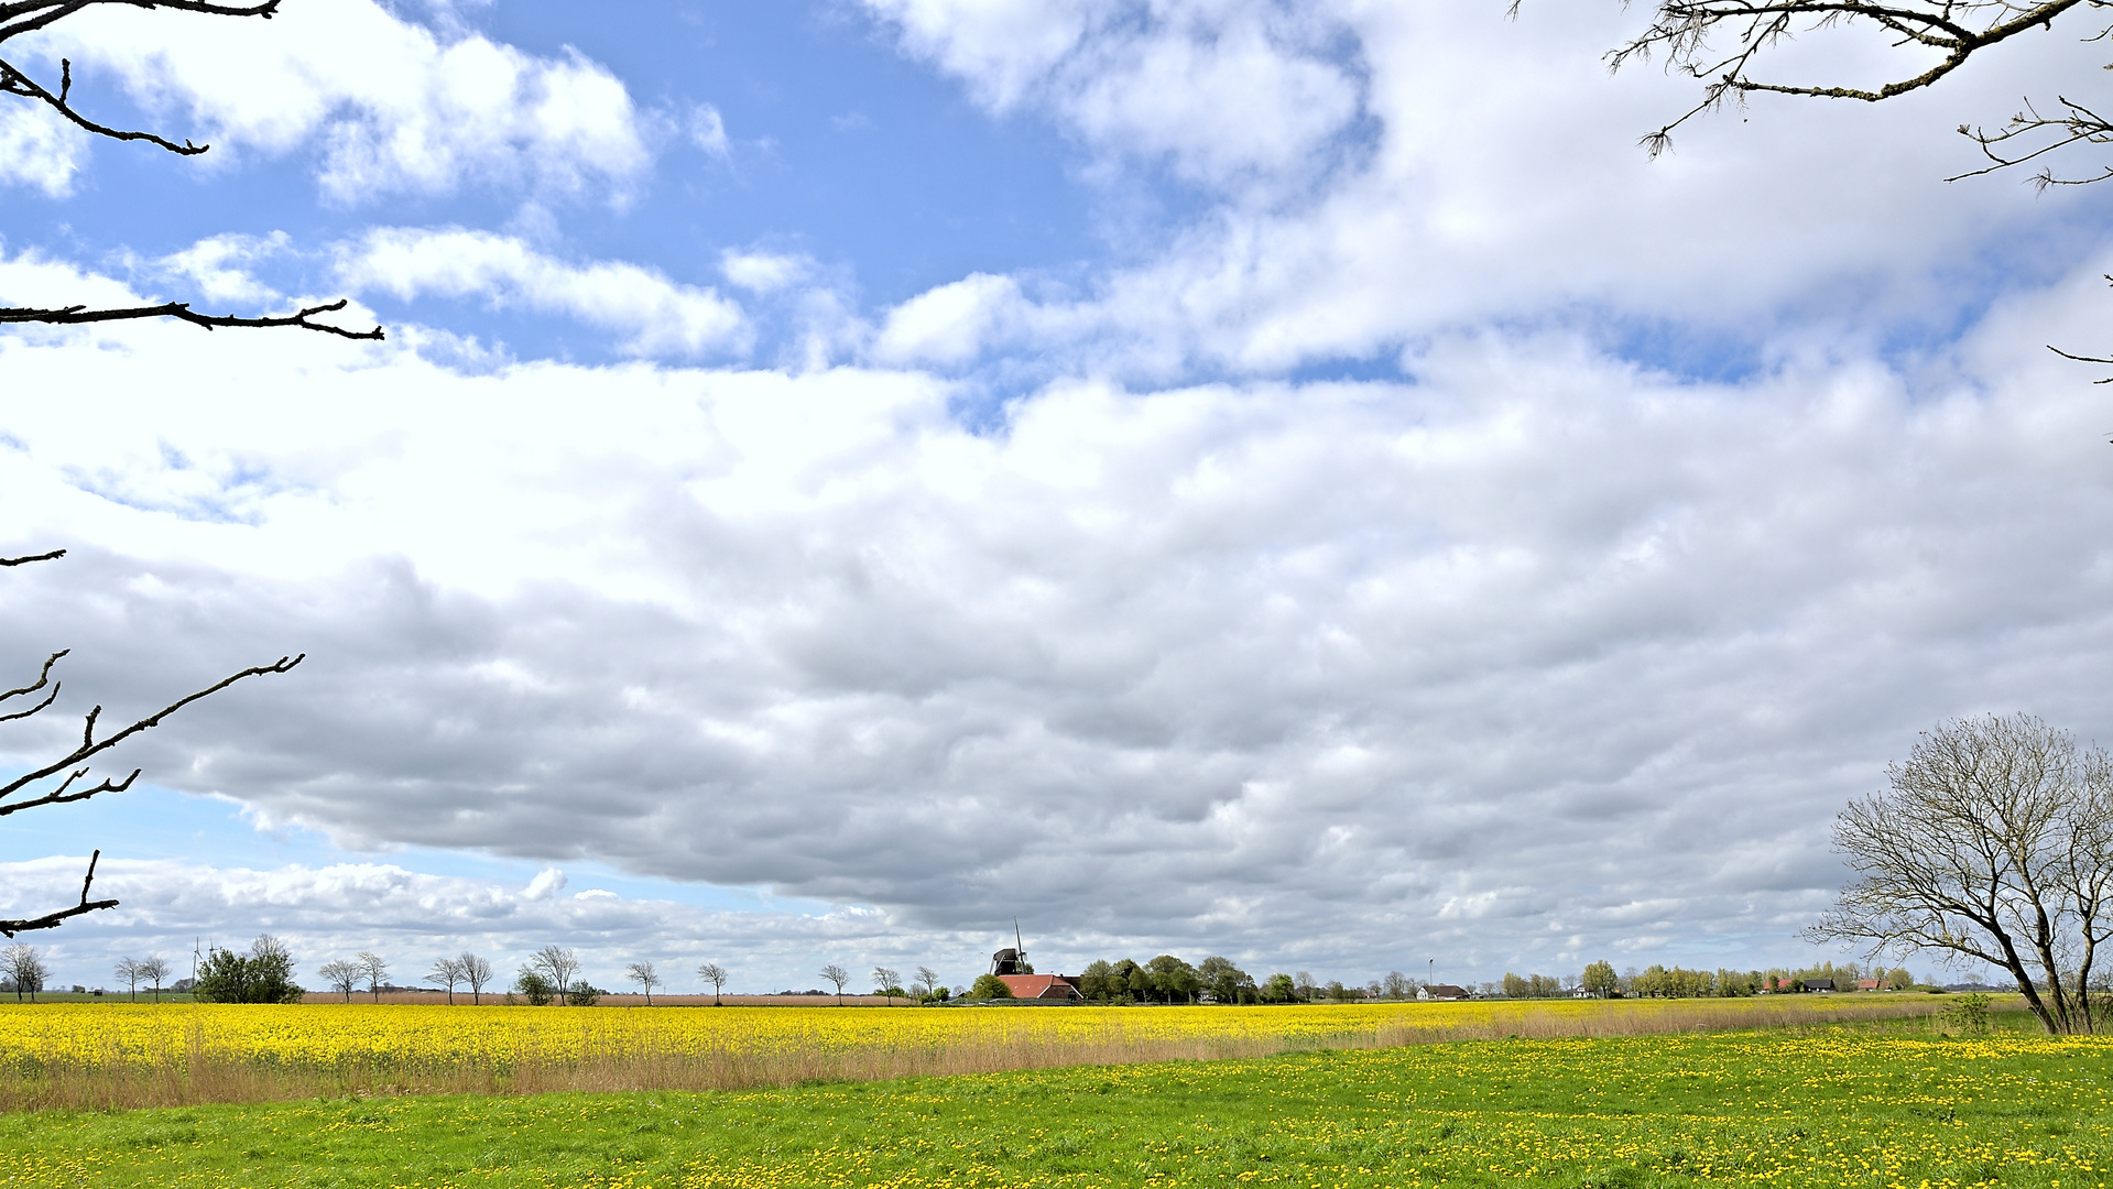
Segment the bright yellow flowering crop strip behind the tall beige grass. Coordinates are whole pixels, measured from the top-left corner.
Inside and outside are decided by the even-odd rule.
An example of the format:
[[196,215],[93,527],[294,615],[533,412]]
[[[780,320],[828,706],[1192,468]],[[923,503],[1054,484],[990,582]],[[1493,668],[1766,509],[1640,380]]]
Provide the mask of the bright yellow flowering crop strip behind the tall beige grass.
[[[1843,999],[1386,1003],[1329,1007],[425,1007],[425,1005],[0,1005],[0,1069],[344,1064],[433,1071],[609,1060],[820,1062],[892,1058],[902,1073],[1052,1064],[1033,1054],[1253,1056],[1447,1037],[1621,1035],[1741,1022],[1794,1022],[1847,1009]],[[1868,997],[1870,1007],[1927,1007]],[[1855,1003],[1864,1007],[1866,1003]],[[1766,1018],[1756,1018],[1766,1009]],[[949,1067],[947,1054],[983,1054]],[[1002,1060],[1006,1052],[1021,1056]],[[885,1075],[892,1069],[875,1067]],[[763,1075],[763,1071],[756,1071]],[[799,1071],[794,1071],[799,1073]],[[773,1081],[763,1075],[750,1081]],[[735,1079],[740,1081],[740,1079]],[[725,1081],[723,1081],[725,1083]]]

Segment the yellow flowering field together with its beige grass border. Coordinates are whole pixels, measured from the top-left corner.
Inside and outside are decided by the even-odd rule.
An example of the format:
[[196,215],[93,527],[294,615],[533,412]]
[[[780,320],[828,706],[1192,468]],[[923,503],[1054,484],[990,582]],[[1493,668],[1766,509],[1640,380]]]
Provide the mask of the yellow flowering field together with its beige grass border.
[[748,1090],[1452,1039],[1916,1020],[1927,995],[1342,1007],[0,1007],[0,1109]]

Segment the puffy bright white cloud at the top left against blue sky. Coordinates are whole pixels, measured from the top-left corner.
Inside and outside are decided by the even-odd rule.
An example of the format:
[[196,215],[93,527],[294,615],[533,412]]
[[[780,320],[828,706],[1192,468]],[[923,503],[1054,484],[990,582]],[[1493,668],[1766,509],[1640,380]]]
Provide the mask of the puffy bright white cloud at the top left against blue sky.
[[321,141],[319,180],[340,203],[465,184],[621,194],[651,165],[647,120],[600,63],[444,40],[372,0],[270,21],[91,8],[25,40],[114,72],[171,139],[216,141],[205,163]]

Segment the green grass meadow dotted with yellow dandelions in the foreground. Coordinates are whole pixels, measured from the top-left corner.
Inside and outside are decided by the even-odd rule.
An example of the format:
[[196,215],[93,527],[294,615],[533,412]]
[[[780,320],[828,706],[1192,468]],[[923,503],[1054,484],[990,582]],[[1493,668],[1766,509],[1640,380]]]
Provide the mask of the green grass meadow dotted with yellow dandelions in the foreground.
[[1919,1022],[1500,1039],[708,1094],[0,1115],[38,1187],[2107,1183],[2113,1043]]

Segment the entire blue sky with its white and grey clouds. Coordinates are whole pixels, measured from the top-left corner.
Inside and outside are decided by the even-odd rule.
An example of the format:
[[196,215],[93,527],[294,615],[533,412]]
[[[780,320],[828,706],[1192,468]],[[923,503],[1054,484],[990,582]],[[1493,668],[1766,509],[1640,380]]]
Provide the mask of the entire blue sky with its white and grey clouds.
[[[1226,955],[1479,982],[1843,959],[1834,813],[1916,733],[2113,712],[2098,188],[1895,101],[1697,99],[1502,0],[285,0],[89,11],[0,106],[25,771],[61,984],[289,942],[412,982],[966,984]],[[1821,34],[1788,72],[1904,51]],[[2081,93],[2077,89],[2071,89]],[[2047,91],[2052,93],[2052,91]],[[2075,158],[2079,169],[2096,167]],[[101,769],[99,769],[101,771]],[[1916,969],[1929,959],[1916,959]],[[313,980],[319,984],[319,980]]]

